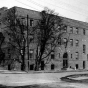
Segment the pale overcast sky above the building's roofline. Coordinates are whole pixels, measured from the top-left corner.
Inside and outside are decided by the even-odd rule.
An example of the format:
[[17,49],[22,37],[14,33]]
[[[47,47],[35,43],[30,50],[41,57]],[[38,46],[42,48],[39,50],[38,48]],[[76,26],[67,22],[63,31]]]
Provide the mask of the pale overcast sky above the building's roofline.
[[13,6],[36,11],[48,7],[60,16],[88,22],[88,0],[0,0],[0,8]]

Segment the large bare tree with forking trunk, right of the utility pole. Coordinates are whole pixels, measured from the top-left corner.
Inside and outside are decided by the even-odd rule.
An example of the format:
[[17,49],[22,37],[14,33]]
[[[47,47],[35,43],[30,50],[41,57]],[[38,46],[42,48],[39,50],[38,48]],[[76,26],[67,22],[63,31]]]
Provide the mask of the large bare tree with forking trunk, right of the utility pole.
[[35,59],[35,70],[39,70],[40,67],[45,66],[46,59],[55,49],[58,37],[60,37],[60,25],[61,19],[57,16],[53,10],[45,9],[40,12],[41,20],[37,24],[37,49]]

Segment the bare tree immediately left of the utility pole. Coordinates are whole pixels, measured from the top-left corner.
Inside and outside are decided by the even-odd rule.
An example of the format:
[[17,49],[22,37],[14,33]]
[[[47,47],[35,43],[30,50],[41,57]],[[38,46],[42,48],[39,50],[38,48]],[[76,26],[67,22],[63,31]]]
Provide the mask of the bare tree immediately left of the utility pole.
[[9,49],[9,59],[18,60],[21,63],[21,70],[25,70],[25,31],[27,26],[23,24],[21,18],[18,18],[15,13],[15,8],[12,8],[8,10],[6,16],[3,18],[3,23],[7,26],[5,32],[9,36],[6,46]]

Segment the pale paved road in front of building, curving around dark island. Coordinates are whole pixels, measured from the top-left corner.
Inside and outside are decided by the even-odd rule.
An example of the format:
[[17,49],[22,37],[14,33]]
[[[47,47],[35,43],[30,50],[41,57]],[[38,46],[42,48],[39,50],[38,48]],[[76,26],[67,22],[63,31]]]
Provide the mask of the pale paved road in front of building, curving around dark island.
[[7,86],[24,86],[33,84],[46,84],[49,86],[62,86],[62,87],[75,87],[75,88],[88,88],[88,85],[78,83],[67,83],[60,80],[61,77],[72,74],[87,74],[85,72],[57,72],[57,73],[41,73],[41,72],[18,72],[0,70],[0,84]]

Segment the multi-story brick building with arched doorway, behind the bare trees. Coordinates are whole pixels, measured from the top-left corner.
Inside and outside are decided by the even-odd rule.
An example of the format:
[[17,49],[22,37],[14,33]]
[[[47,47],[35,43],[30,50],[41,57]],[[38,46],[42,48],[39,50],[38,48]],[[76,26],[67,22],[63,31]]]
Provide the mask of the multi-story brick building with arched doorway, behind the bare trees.
[[[32,29],[32,26],[36,25],[37,20],[41,19],[40,13],[37,11],[20,7],[14,8],[16,10],[15,14],[19,17],[27,17],[27,15],[29,16],[30,29]],[[2,15],[2,13],[5,15],[5,11],[8,10],[9,9],[1,9],[0,15]],[[58,70],[68,67],[73,69],[88,69],[88,23],[65,17],[60,18],[63,21],[63,25],[66,27],[65,32],[61,38],[64,43],[61,46],[57,44],[55,50],[53,50],[49,56],[51,61],[41,69]],[[27,19],[25,18],[25,20]],[[2,24],[0,24],[0,28],[1,26]],[[67,43],[67,46],[65,46],[65,43]],[[27,55],[25,56],[26,64],[29,63],[29,70],[34,69],[36,58],[35,55],[36,44],[32,42],[32,44],[29,45],[29,61],[27,60]]]

